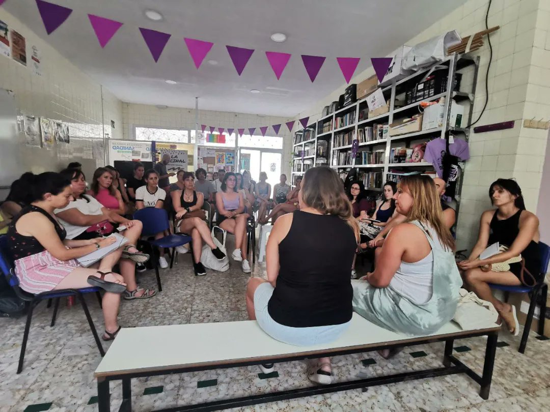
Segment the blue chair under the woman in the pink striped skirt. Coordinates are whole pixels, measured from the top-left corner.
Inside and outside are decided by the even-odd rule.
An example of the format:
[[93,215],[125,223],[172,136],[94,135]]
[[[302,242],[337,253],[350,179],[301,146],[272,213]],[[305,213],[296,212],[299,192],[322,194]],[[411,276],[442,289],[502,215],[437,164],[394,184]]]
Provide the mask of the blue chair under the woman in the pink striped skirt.
[[42,292],[38,294],[25,292],[19,287],[19,279],[15,275],[14,263],[11,256],[12,254],[10,253],[10,250],[8,247],[8,237],[6,235],[0,236],[0,269],[2,270],[6,280],[8,281],[9,286],[13,288],[15,294],[25,302],[29,302],[29,308],[27,311],[27,321],[25,324],[25,332],[23,333],[23,343],[21,344],[21,353],[19,355],[19,365],[17,367],[17,373],[20,374],[21,371],[23,370],[23,361],[25,359],[25,349],[27,346],[27,340],[29,338],[29,330],[31,327],[32,311],[37,307],[38,303],[46,299],[48,300],[56,299],[55,307],[53,309],[52,322],[50,324],[50,326],[53,327],[56,322],[57,309],[59,307],[59,298],[67,297],[67,296],[78,297],[80,304],[84,309],[84,313],[86,314],[86,319],[88,320],[88,324],[90,325],[90,330],[92,331],[92,335],[94,335],[94,339],[97,344],[97,349],[100,350],[100,354],[103,357],[105,355],[105,350],[103,350],[103,346],[101,345],[100,338],[97,336],[97,331],[94,325],[94,321],[92,321],[92,317],[90,316],[90,311],[88,310],[88,306],[83,296],[85,293],[96,293],[98,295],[98,299],[100,299],[100,306],[101,306],[101,295],[99,294],[99,291],[101,289],[98,287],[90,286],[90,287],[85,287],[81,289],[57,289],[54,291]]

